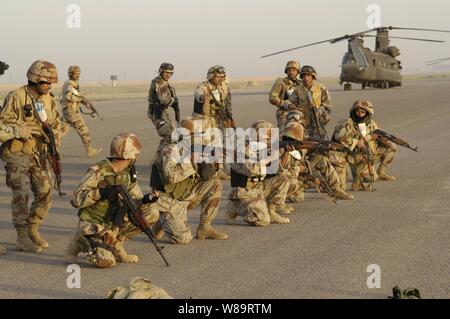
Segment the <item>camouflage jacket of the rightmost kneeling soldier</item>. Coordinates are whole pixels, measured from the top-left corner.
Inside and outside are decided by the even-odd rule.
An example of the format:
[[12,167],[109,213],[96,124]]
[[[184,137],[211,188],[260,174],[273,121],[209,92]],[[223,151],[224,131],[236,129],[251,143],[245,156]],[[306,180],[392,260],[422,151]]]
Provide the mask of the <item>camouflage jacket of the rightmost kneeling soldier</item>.
[[[379,128],[378,124],[373,120],[368,120],[366,123],[361,124],[364,136],[372,134],[373,131]],[[334,130],[333,140],[347,146],[352,151],[355,150],[356,144],[358,144],[360,139],[360,128],[351,118],[340,121]],[[372,152],[375,152],[376,141],[370,141],[369,145]]]

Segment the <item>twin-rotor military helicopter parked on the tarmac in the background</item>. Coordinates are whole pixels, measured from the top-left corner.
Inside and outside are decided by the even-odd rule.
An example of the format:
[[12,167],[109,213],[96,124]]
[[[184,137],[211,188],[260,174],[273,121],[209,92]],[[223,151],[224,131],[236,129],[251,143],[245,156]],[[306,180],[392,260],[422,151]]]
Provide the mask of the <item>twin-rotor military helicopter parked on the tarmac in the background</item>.
[[[298,50],[321,43],[335,44],[340,41],[348,41],[348,51],[344,54],[341,65],[340,85],[344,84],[344,90],[351,90],[351,83],[358,83],[362,85],[364,90],[366,87],[374,88],[392,88],[402,85],[402,65],[401,61],[397,60],[400,55],[400,50],[391,46],[390,39],[402,39],[402,40],[414,40],[425,42],[438,42],[440,40],[419,39],[419,38],[406,38],[406,37],[393,37],[389,36],[391,30],[410,30],[410,31],[432,31],[432,32],[448,32],[446,30],[434,30],[434,29],[418,29],[418,28],[400,28],[400,27],[379,27],[371,30],[347,34],[342,37],[329,39],[325,41],[319,41],[302,45],[296,48],[283,50],[268,55],[264,55],[261,58]],[[368,33],[376,32],[376,35],[370,35]],[[364,47],[364,38],[376,38],[375,51]]]

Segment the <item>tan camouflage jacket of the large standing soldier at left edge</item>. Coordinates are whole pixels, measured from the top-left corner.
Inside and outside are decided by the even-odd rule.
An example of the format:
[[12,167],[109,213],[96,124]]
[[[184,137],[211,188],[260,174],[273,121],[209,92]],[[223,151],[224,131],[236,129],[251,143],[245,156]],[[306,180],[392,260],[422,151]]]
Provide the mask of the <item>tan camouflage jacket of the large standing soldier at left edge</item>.
[[[0,122],[4,125],[20,126],[27,124],[42,127],[34,107],[35,99],[27,92],[26,88],[27,86],[22,86],[6,96],[0,110]],[[47,114],[47,124],[52,127],[56,142],[59,145],[61,117],[55,99],[51,93],[48,93],[40,96],[37,101],[43,103]],[[34,158],[38,164],[42,164],[48,158],[47,144],[43,133],[27,141],[18,138],[10,139],[2,145],[1,153],[2,159],[6,162],[15,162],[18,158],[27,156]]]

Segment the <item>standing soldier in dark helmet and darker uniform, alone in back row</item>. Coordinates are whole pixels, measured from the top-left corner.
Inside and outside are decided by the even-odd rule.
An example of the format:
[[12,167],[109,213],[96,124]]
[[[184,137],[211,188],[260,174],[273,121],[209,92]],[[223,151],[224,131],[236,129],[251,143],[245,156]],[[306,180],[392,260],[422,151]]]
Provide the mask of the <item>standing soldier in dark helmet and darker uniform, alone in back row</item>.
[[170,140],[170,135],[175,129],[169,116],[169,107],[175,111],[176,122],[180,122],[178,97],[175,88],[169,83],[173,73],[172,64],[162,63],[159,67],[159,75],[152,80],[148,93],[148,117],[155,125],[158,135],[166,140]]

